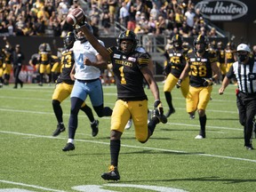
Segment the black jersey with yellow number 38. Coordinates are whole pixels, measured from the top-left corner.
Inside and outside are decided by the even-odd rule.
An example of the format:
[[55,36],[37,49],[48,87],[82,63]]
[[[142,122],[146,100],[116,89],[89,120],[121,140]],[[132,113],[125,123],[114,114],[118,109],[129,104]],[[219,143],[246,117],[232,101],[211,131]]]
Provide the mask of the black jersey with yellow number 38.
[[217,56],[215,52],[205,51],[202,57],[198,57],[194,50],[189,50],[186,56],[190,68],[189,84],[193,87],[204,86],[205,78],[212,77],[213,62],[217,62]]

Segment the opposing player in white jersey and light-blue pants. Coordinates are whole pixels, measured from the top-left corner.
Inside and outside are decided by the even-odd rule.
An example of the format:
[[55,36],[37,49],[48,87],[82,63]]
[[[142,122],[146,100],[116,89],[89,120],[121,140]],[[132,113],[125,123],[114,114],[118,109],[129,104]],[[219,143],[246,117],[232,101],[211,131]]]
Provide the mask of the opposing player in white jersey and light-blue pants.
[[[92,27],[85,23],[85,28],[88,28],[92,33]],[[90,44],[82,31],[76,31],[76,42],[73,45],[73,53],[75,64],[72,71],[75,70],[75,84],[70,94],[71,108],[68,122],[68,143],[63,151],[74,150],[74,140],[76,128],[78,124],[78,112],[84,100],[89,96],[92,102],[92,107],[99,117],[111,116],[112,109],[104,107],[103,90],[100,81],[100,68],[92,66],[84,66],[84,59],[89,58],[93,62],[103,62],[102,56]],[[99,40],[100,41],[100,40]],[[102,41],[100,41],[103,44]],[[71,73],[72,73],[71,71]]]

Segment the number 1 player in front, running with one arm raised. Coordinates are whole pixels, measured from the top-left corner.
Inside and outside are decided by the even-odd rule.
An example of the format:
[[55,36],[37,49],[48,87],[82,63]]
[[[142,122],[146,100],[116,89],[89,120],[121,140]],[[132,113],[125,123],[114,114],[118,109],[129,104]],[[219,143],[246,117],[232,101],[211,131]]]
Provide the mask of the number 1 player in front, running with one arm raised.
[[[81,26],[82,30],[92,44],[100,52],[104,60],[112,63],[116,78],[117,100],[111,116],[110,132],[110,157],[111,165],[109,172],[104,172],[101,178],[104,180],[120,180],[118,172],[118,156],[121,148],[121,136],[124,132],[130,116],[134,123],[135,137],[141,143],[147,142],[153,134],[156,124],[166,123],[164,109],[160,101],[159,89],[152,72],[148,68],[149,60],[147,53],[136,51],[138,40],[134,32],[126,30],[121,32],[116,39],[117,46],[105,48],[90,31]],[[85,59],[86,66],[98,66],[100,63]],[[105,64],[107,65],[107,64]],[[153,93],[155,110],[153,117],[148,123],[148,96],[143,88],[143,79],[148,82]]]

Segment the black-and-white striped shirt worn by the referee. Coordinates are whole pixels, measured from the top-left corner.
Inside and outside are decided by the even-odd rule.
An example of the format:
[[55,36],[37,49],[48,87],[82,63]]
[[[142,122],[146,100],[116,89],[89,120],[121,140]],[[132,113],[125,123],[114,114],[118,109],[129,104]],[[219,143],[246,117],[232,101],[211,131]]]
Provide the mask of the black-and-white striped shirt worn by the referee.
[[256,92],[256,61],[252,58],[246,64],[241,64],[238,61],[234,62],[226,76],[228,79],[236,77],[240,92]]

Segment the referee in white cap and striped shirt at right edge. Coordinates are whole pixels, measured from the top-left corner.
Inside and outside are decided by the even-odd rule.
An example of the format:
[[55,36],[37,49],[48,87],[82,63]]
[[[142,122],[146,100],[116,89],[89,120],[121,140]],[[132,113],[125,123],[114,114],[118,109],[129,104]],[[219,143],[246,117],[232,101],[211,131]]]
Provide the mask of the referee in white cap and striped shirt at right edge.
[[239,90],[236,94],[236,105],[239,112],[239,122],[244,126],[244,147],[252,150],[252,120],[256,115],[256,61],[249,56],[250,52],[247,44],[237,46],[238,61],[234,62],[229,69],[219,93],[220,95],[223,94],[230,80],[236,77]]

